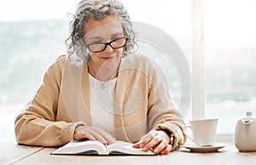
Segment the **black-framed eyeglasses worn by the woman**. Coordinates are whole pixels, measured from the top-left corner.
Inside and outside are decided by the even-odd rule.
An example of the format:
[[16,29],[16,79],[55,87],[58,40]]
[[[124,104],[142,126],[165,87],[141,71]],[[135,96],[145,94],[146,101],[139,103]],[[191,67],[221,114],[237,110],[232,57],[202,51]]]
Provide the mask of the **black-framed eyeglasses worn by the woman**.
[[109,45],[111,48],[122,48],[127,43],[127,37],[119,37],[116,38],[108,43],[89,43],[87,44],[84,40],[84,43],[86,44],[87,48],[89,48],[90,52],[98,53],[104,51],[107,46]]

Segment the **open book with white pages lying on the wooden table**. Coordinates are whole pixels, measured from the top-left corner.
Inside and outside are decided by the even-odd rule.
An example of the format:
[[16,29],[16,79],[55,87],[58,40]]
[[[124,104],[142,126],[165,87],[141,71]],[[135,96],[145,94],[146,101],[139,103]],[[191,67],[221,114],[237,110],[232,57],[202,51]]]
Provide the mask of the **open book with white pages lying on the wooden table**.
[[117,140],[111,145],[103,145],[100,141],[73,140],[53,151],[52,155],[155,155],[153,151],[133,148],[131,143]]

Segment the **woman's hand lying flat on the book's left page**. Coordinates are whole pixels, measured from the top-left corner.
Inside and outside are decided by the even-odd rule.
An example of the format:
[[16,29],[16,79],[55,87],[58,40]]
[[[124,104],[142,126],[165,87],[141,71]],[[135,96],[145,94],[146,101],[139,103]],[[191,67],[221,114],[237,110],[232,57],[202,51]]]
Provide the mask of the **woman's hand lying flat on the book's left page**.
[[105,145],[115,142],[111,134],[93,126],[78,126],[74,131],[73,139],[99,140]]

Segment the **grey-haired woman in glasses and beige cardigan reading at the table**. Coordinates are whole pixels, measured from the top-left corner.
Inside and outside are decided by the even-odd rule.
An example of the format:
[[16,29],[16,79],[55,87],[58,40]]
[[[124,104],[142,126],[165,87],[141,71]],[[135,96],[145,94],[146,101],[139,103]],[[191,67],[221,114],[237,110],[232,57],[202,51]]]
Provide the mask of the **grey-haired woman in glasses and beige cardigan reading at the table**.
[[23,145],[58,146],[72,139],[125,140],[167,154],[185,140],[183,119],[160,71],[135,54],[135,32],[117,0],[82,0],[70,24],[67,55],[44,75],[15,120]]

